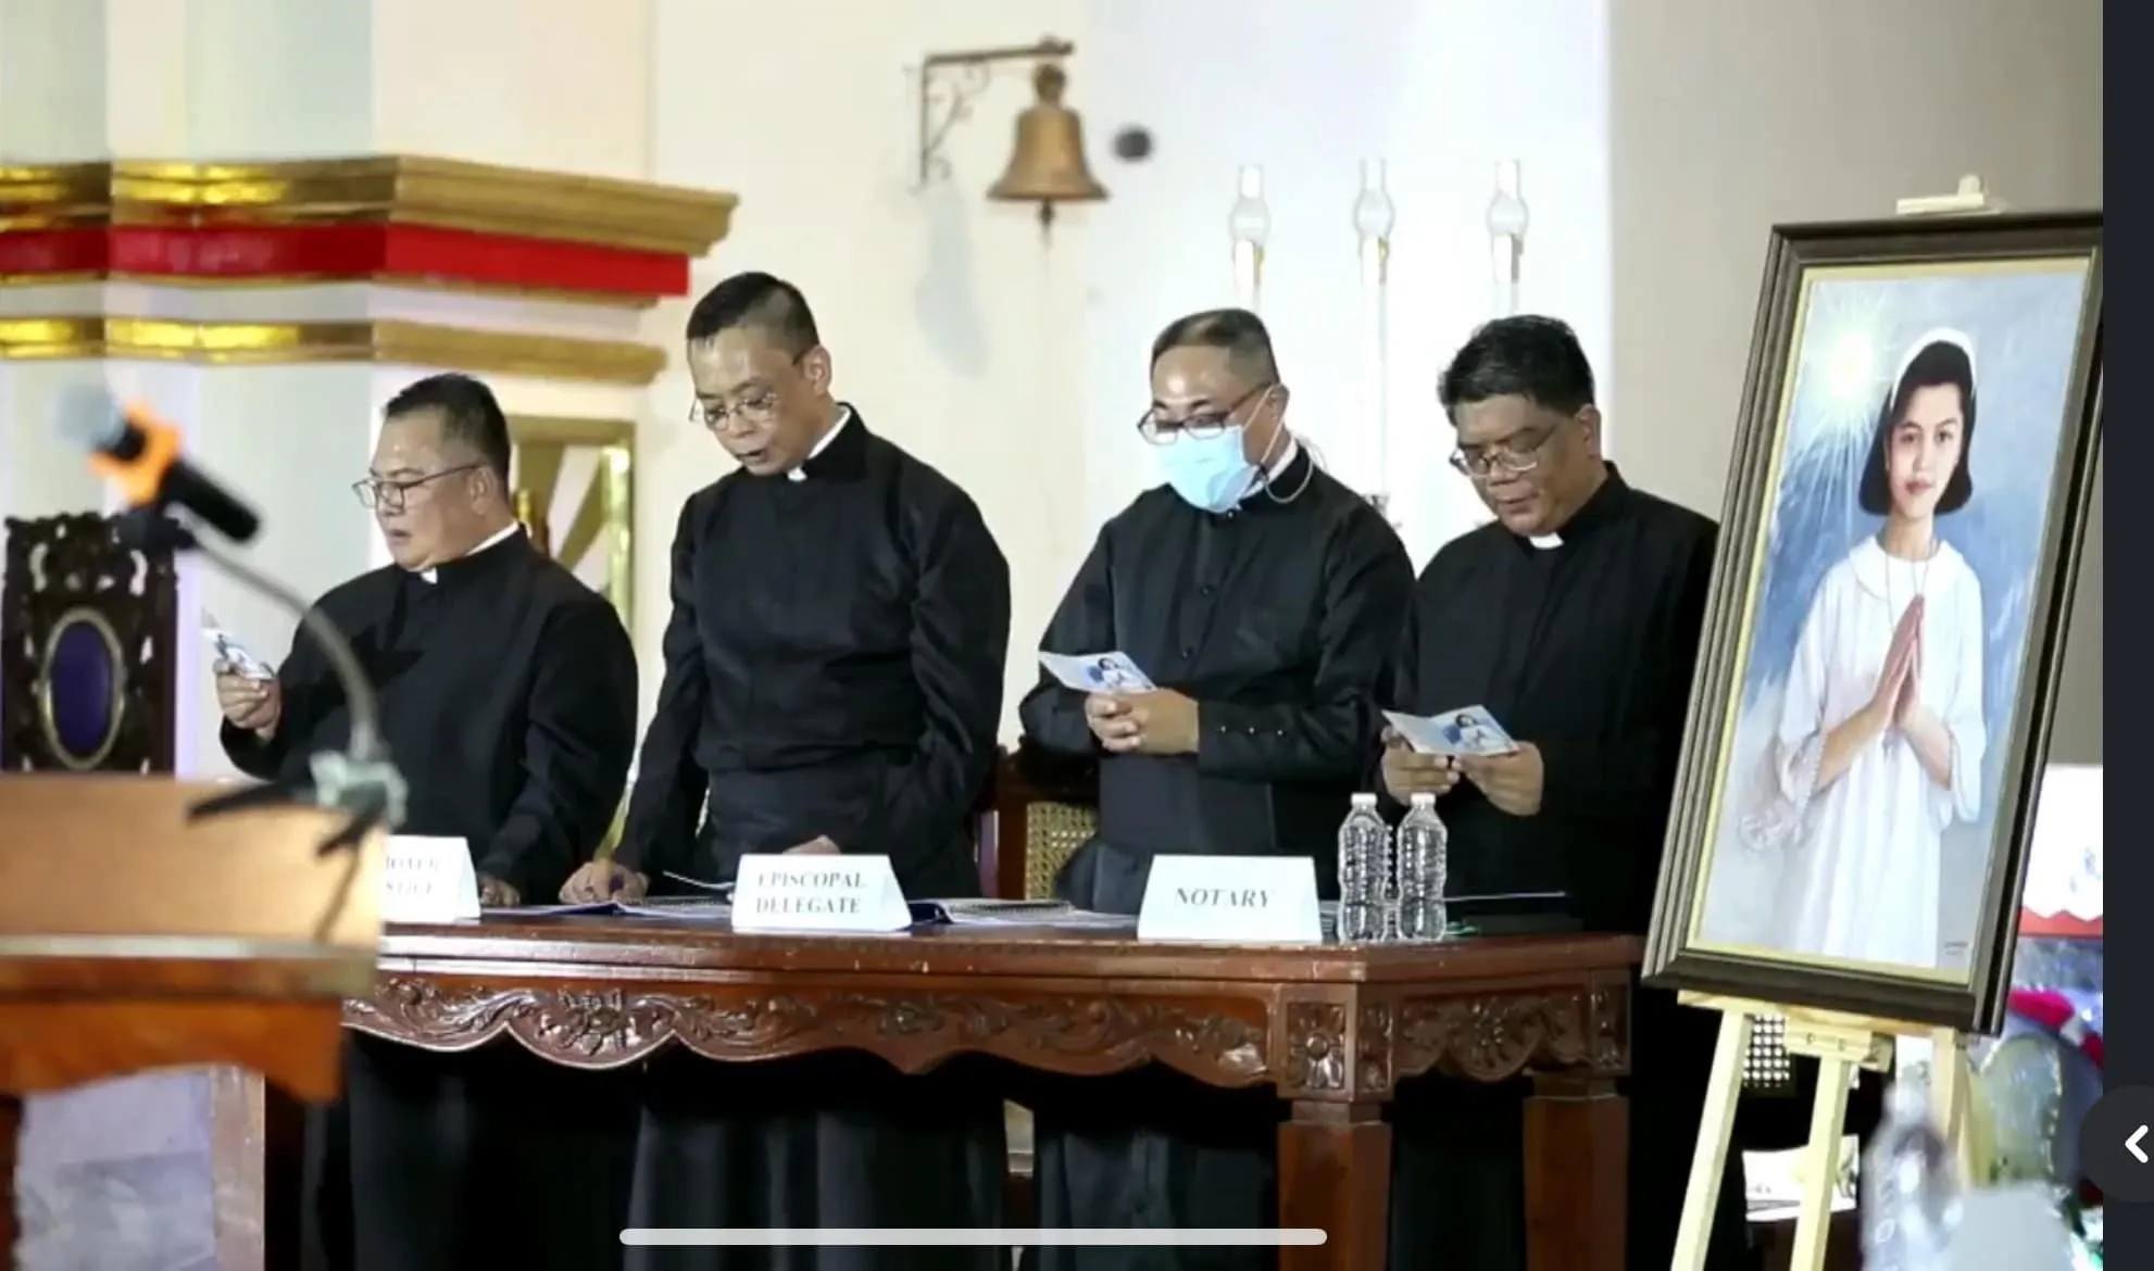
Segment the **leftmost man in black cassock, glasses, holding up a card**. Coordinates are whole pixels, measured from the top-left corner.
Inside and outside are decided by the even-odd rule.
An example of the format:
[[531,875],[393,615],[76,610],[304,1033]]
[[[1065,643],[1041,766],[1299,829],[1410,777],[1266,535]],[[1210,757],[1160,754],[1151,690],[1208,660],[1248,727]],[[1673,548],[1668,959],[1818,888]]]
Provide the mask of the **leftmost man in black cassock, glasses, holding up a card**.
[[[517,526],[508,420],[485,383],[435,375],[383,411],[355,487],[394,564],[317,607],[358,651],[409,784],[403,834],[463,838],[487,905],[545,900],[597,851],[635,752],[635,653],[620,614]],[[218,668],[224,752],[304,782],[351,715],[302,631],[274,681]],[[310,1116],[306,1260],[461,1271],[493,1260],[618,1265],[633,1127],[625,1079],[513,1043],[431,1056],[345,1047],[345,1099]]]

